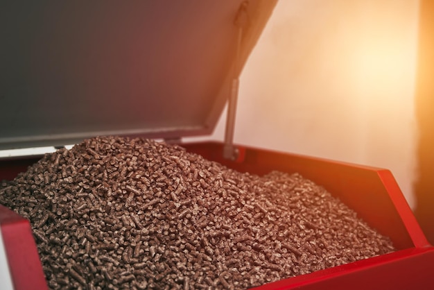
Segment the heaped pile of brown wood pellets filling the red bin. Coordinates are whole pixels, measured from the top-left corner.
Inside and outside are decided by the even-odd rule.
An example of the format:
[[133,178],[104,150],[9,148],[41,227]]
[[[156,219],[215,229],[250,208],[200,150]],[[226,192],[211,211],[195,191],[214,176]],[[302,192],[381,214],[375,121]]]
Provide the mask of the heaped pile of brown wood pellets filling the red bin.
[[394,250],[297,173],[98,137],[45,155],[0,203],[31,221],[51,289],[246,289]]

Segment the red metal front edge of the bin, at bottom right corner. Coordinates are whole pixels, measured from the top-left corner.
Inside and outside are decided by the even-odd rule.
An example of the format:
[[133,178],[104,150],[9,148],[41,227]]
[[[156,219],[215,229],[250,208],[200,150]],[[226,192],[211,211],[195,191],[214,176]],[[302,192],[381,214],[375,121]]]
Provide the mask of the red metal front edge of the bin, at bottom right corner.
[[434,288],[434,248],[410,248],[306,275],[255,290],[404,290]]

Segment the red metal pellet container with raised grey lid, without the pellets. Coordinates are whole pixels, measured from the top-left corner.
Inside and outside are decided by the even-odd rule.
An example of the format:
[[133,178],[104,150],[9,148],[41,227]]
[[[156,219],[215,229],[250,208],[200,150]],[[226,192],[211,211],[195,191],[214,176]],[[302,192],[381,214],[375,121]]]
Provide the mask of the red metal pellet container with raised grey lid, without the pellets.
[[[10,124],[2,128],[2,148],[62,146],[96,135],[179,142],[211,132],[231,99],[225,144],[184,144],[189,151],[238,171],[300,172],[398,248],[264,288],[423,289],[433,282],[433,247],[389,171],[232,144],[237,77],[274,3],[45,4],[9,3],[1,12],[7,40],[1,53],[1,116]],[[14,178],[35,161],[4,160],[0,179]],[[30,232],[23,234],[28,244],[12,244],[6,228],[15,229],[15,221],[22,220],[6,209],[1,214],[8,216],[2,217],[2,233],[16,289],[43,284]],[[19,254],[35,268],[24,272]]]

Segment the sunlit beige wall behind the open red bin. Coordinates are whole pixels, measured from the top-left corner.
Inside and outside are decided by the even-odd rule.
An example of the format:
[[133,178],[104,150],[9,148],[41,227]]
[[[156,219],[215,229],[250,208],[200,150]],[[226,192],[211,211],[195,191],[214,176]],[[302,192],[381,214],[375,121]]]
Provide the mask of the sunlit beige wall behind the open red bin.
[[390,169],[415,207],[418,6],[279,1],[241,75],[234,142]]

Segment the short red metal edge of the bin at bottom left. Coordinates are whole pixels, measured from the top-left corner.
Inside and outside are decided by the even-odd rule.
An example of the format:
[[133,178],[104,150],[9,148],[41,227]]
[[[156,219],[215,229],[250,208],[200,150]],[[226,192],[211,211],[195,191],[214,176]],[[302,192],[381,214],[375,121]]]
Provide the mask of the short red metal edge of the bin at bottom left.
[[0,205],[0,229],[14,289],[48,289],[28,220]]

